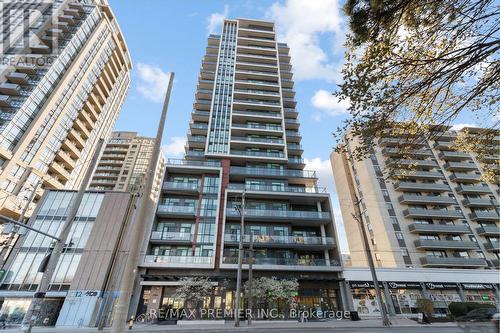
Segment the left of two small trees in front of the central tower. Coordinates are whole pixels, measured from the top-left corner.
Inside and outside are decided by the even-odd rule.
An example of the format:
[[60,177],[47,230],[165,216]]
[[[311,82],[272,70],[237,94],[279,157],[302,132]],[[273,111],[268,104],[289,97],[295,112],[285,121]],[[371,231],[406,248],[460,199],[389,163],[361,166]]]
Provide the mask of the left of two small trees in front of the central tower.
[[184,277],[175,290],[175,297],[184,300],[184,308],[195,307],[205,298],[212,295],[212,283],[204,277]]

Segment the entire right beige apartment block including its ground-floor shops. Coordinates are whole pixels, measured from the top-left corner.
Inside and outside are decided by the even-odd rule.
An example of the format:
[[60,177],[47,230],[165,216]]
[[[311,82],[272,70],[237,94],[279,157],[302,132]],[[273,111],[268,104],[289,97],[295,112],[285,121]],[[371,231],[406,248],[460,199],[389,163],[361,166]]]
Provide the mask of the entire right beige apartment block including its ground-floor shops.
[[[471,135],[483,130],[463,129]],[[360,229],[364,226],[375,265],[386,272],[383,285],[392,282],[395,289],[406,290],[401,286],[408,282],[408,292],[396,294],[403,295],[406,303],[412,300],[412,311],[416,311],[419,297],[433,299],[436,311],[443,315],[452,301],[495,303],[498,299],[499,187],[481,176],[486,165],[498,175],[500,155],[495,149],[481,157],[457,151],[454,140],[458,134],[441,126],[434,128],[432,140],[424,140],[388,131],[378,139],[369,158],[353,158],[358,144],[355,138],[342,144],[344,152],[331,154],[349,265],[355,271],[368,266]],[[500,142],[500,136],[495,142]],[[402,144],[410,149],[403,149]],[[362,224],[352,214],[361,217]],[[359,305],[363,299],[361,303],[368,304],[374,297],[370,279],[359,281],[362,274],[349,270],[345,277],[350,280],[354,302]],[[457,283],[460,281],[464,285]],[[430,285],[426,288],[425,283]],[[391,288],[386,287],[389,299]],[[469,297],[467,290],[476,295]],[[389,302],[395,313],[398,306],[394,304],[400,299],[394,296]],[[406,308],[411,312],[410,306]],[[372,310],[364,307],[360,311]]]

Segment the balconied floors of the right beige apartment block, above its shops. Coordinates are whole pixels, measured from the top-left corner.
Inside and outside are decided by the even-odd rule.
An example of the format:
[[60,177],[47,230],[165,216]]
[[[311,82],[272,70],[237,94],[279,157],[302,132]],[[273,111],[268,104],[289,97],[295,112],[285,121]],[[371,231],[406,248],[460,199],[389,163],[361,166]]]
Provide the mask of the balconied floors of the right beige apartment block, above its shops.
[[[332,153],[352,266],[367,265],[351,215],[359,200],[379,267],[499,267],[499,187],[482,178],[485,165],[498,177],[498,148],[487,156],[459,151],[457,135],[448,127],[435,128],[433,140],[388,131],[363,161],[353,159],[355,140],[345,153]],[[401,150],[402,143],[412,148]]]

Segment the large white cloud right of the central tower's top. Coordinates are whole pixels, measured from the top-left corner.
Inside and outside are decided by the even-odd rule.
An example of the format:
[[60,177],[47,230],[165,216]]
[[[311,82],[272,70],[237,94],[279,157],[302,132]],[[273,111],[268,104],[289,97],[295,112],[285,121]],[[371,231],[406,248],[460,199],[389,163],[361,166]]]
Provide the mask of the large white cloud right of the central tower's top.
[[[344,53],[345,29],[338,0],[287,0],[274,3],[266,16],[276,22],[278,37],[290,46],[290,56],[297,80],[339,81],[342,60],[332,60]],[[320,45],[321,35],[328,34],[331,55]]]

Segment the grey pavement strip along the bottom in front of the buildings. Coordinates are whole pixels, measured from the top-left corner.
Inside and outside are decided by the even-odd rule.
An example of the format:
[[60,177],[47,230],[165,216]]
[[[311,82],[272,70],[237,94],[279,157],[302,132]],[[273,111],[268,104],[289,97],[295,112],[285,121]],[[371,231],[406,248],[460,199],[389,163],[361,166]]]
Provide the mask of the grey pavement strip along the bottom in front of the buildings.
[[[132,330],[126,330],[126,332],[193,332],[193,331],[207,331],[207,330],[217,330],[219,332],[246,332],[248,327],[245,322],[241,323],[241,327],[235,328],[234,322],[226,323],[207,323],[206,321],[197,324],[183,324],[183,325],[157,325],[157,324],[136,324]],[[431,325],[420,325],[417,322],[398,318],[393,322],[393,327],[456,327],[455,323],[433,323]],[[366,319],[360,321],[350,321],[350,320],[329,320],[324,322],[307,322],[299,323],[296,321],[254,321],[252,324],[253,330],[262,330],[266,332],[269,329],[290,329],[290,330],[301,330],[305,328],[370,328],[370,327],[382,327],[382,322],[380,319]],[[9,328],[0,332],[17,332],[18,329]],[[109,332],[108,329],[103,331],[98,331],[96,328],[35,328],[33,332],[37,333],[97,333],[97,332]]]

